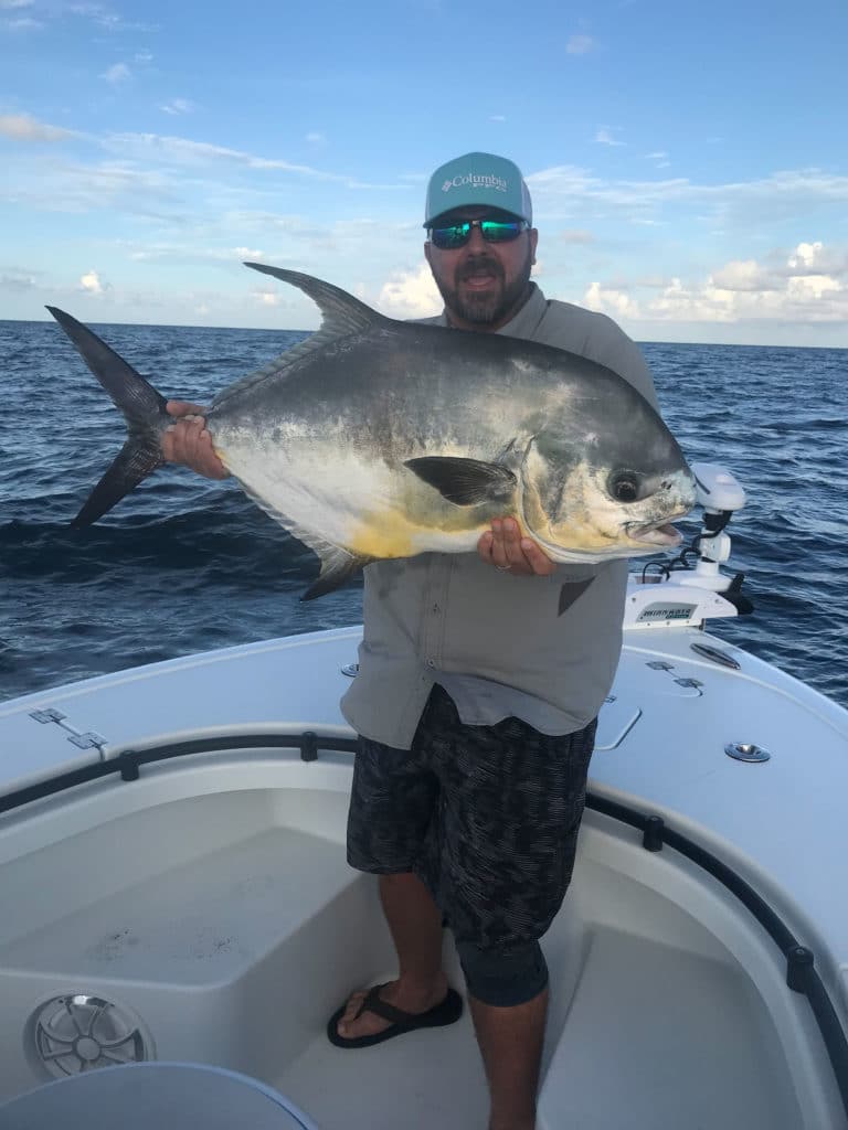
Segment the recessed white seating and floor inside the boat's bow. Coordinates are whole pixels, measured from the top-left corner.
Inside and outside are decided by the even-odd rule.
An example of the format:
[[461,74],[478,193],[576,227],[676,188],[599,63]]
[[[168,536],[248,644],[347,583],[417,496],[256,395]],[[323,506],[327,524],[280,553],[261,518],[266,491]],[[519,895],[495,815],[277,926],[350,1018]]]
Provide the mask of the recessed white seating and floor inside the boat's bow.
[[[322,1130],[483,1130],[467,1014],[374,1049],[326,1040],[346,994],[393,972],[374,881],[345,862],[344,802],[309,790],[282,806],[261,790],[193,797],[7,864],[0,898],[18,915],[0,942],[2,1095],[46,1078],[32,1048],[21,1051],[28,1022],[75,992],[130,1009],[157,1058],[263,1079]],[[297,807],[338,834],[287,827]],[[777,1037],[742,966],[678,906],[597,858],[596,841],[583,836],[545,941],[540,1127],[798,1130]]]

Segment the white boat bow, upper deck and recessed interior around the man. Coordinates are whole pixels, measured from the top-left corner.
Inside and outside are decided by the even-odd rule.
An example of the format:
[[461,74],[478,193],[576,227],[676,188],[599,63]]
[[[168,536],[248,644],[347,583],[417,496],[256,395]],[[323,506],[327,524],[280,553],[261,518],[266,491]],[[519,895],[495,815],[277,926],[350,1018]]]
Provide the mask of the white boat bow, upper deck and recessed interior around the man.
[[[739,669],[692,652],[702,641]],[[46,1077],[40,1009],[78,993],[114,1001],[115,1026],[136,1025],[152,1055],[262,1079],[321,1130],[485,1124],[467,1015],[357,1052],[325,1036],[352,988],[393,974],[392,950],[373,880],[345,863],[351,758],[305,763],[270,738],[349,737],[337,703],[357,642],[353,628],[294,637],[0,704],[0,794],[128,748],[232,739],[0,819],[0,902],[16,907],[0,922],[0,1098]],[[97,744],[80,749],[75,733]],[[815,950],[841,1016],[848,906],[822,861],[845,842],[847,739],[845,712],[808,688],[702,633],[660,629],[629,634],[591,766],[596,796],[663,816],[754,885]],[[771,759],[732,760],[732,741]],[[790,834],[799,806],[803,843]],[[545,950],[540,1130],[845,1125],[782,955],[677,852],[646,852],[633,828],[588,812]],[[51,1052],[60,1069],[64,1046]]]

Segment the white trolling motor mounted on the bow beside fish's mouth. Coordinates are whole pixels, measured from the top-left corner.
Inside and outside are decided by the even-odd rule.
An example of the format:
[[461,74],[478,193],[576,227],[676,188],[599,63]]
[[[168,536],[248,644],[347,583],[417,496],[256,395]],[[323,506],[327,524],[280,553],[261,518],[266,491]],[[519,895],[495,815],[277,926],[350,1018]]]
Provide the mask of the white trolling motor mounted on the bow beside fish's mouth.
[[[703,524],[674,560],[649,562],[631,574],[624,610],[625,628],[699,626],[706,619],[743,616],[753,605],[742,594],[744,573],[727,576],[719,566],[730,557],[727,525],[745,505],[745,492],[718,463],[691,463],[695,501]],[[656,568],[657,573],[649,570]]]

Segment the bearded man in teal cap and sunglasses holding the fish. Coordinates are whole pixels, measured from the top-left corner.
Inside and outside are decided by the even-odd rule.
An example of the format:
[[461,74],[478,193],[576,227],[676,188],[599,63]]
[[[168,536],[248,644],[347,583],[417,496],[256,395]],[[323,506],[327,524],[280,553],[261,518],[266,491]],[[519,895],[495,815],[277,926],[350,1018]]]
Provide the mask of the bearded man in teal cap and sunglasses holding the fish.
[[[526,338],[607,366],[657,407],[638,347],[603,314],[530,280],[538,232],[520,171],[470,153],[430,180],[433,324]],[[167,459],[226,471],[197,406],[168,403]],[[442,968],[453,932],[491,1094],[490,1130],[535,1127],[547,966],[539,939],[571,879],[596,719],[622,642],[626,563],[557,565],[511,518],[477,555],[365,570],[360,671],[343,711],[360,734],[348,861],[379,876],[399,975],[330,1019],[356,1049],[458,1019]]]

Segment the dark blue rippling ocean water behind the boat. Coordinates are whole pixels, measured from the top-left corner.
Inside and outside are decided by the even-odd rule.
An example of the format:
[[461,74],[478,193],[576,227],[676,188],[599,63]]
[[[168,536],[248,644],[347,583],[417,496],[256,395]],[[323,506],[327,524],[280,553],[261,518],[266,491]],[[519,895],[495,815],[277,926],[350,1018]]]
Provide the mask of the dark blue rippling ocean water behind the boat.
[[[200,403],[304,337],[94,329],[161,392]],[[724,463],[749,496],[728,568],[755,611],[710,631],[848,705],[848,350],[642,348],[689,459]],[[123,423],[54,323],[0,321],[0,698],[361,620],[358,585],[300,601],[315,559],[232,481],[165,468],[70,530]]]

